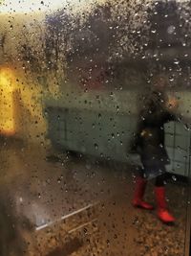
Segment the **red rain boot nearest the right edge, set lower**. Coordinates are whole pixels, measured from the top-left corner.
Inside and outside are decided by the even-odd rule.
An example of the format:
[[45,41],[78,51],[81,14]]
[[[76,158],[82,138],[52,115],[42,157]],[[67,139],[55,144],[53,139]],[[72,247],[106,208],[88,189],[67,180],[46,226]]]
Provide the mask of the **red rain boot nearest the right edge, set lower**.
[[156,187],[155,193],[156,193],[156,198],[158,203],[157,214],[158,214],[159,220],[163,221],[164,223],[173,223],[175,221],[175,218],[167,210],[164,186]]

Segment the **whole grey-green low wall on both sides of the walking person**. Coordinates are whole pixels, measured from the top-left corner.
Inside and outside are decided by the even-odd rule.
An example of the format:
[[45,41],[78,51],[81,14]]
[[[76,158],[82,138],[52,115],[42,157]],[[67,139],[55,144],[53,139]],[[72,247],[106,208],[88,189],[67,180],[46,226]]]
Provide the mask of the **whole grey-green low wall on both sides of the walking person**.
[[[136,130],[134,116],[77,108],[49,107],[48,127],[54,146],[121,162],[131,161],[129,142]],[[180,123],[165,126],[165,144],[171,164],[169,172],[188,175],[190,133]]]

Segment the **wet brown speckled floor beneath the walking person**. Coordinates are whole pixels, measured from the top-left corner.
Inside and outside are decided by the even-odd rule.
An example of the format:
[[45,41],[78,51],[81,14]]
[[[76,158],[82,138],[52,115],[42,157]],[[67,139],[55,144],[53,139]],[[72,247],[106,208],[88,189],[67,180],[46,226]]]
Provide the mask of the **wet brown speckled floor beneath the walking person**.
[[[168,226],[132,207],[132,168],[46,156],[43,147],[1,146],[0,255],[184,255],[186,184],[167,184],[177,218]],[[152,182],[146,196],[155,203]]]

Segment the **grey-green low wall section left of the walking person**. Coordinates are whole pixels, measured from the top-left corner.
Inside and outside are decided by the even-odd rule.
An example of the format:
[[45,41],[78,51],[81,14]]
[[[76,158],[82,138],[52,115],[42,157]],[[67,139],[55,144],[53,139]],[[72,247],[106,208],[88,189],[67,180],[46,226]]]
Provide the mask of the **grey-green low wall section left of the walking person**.
[[127,161],[135,118],[122,113],[76,108],[48,108],[48,136],[53,145],[98,157]]

